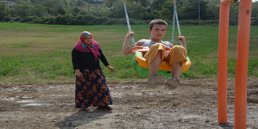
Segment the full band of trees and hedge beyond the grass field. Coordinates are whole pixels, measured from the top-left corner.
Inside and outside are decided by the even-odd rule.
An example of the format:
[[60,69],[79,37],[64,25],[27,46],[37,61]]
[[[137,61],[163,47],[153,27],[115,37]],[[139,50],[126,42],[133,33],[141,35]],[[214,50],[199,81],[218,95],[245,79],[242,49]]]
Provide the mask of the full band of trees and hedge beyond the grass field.
[[[0,22],[58,25],[126,25],[123,0],[15,0],[0,4]],[[220,0],[176,0],[181,25],[218,25]],[[131,25],[153,19],[172,23],[173,0],[126,0]],[[238,24],[239,1],[230,5],[230,25]],[[258,1],[252,3],[251,25],[258,25]]]

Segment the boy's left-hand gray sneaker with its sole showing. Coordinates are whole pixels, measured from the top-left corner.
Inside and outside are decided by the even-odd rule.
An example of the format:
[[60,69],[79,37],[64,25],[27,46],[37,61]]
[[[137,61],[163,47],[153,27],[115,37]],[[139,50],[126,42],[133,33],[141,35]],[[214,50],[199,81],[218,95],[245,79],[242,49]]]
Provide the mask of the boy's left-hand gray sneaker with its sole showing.
[[166,80],[166,77],[161,75],[154,75],[150,77],[148,80],[147,87],[148,88],[157,88],[161,82],[164,82]]

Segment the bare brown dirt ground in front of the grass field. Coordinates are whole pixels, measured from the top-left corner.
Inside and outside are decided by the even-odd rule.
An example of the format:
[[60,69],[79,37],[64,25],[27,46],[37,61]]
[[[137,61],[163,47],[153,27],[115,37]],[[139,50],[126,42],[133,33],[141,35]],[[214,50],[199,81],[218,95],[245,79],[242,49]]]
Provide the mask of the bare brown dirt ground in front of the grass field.
[[[246,127],[258,129],[258,79],[247,82]],[[108,82],[113,110],[74,108],[75,85],[0,85],[0,128],[8,129],[233,129],[234,78],[228,79],[228,123],[218,124],[217,80],[183,79],[174,91],[165,82]]]

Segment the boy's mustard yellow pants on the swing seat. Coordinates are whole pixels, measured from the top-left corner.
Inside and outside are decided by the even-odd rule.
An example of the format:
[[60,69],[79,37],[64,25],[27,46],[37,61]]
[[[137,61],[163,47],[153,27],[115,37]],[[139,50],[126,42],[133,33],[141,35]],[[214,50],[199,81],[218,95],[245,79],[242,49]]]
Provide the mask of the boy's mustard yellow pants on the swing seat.
[[144,55],[144,58],[150,64],[155,56],[157,55],[158,50],[162,50],[161,60],[168,62],[170,65],[174,65],[175,63],[181,62],[182,67],[187,62],[187,53],[183,46],[175,45],[172,47],[167,53],[165,53],[166,47],[162,43],[155,43],[150,50]]

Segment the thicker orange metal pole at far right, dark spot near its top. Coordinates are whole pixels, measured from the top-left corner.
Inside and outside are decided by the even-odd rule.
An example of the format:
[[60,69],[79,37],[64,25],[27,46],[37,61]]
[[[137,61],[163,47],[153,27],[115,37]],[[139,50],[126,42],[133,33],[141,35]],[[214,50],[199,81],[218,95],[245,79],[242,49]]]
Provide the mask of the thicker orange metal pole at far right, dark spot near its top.
[[237,31],[234,128],[246,128],[247,69],[252,0],[240,1]]

